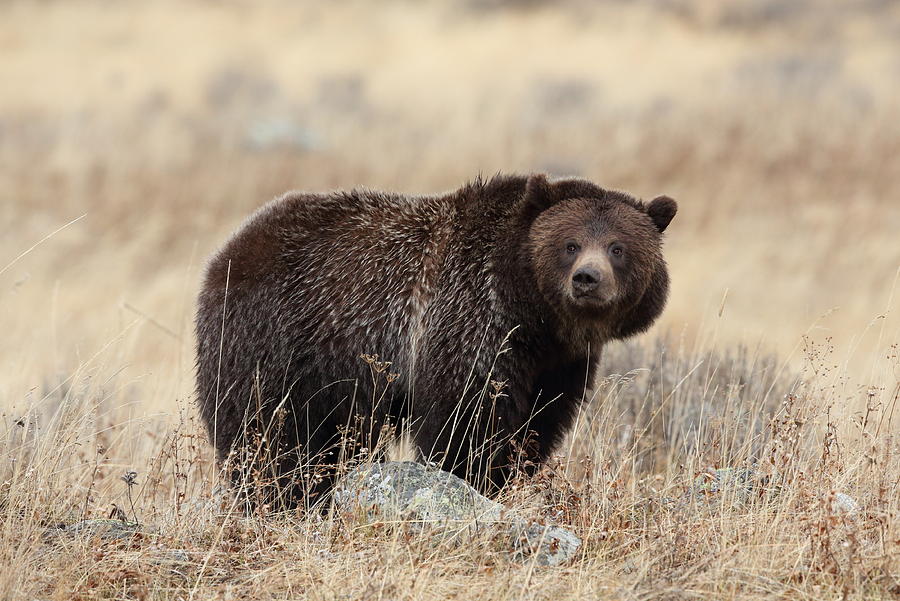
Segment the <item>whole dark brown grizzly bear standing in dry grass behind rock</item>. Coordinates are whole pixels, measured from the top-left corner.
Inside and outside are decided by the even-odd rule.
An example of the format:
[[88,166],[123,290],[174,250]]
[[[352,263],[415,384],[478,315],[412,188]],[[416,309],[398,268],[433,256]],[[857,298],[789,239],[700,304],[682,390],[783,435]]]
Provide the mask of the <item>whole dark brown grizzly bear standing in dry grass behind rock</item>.
[[292,507],[394,427],[495,492],[560,442],[603,345],[662,311],[675,211],[541,174],[270,202],[200,293],[198,402],[218,460],[251,504]]

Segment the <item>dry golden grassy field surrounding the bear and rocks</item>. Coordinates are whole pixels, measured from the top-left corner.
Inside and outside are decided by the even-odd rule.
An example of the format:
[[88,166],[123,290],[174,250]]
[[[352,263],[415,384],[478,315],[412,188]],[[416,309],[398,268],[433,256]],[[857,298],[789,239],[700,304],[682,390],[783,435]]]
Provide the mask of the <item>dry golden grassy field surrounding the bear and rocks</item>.
[[[898,32],[882,1],[3,4],[0,598],[900,597]],[[508,493],[577,560],[223,512],[205,257],[287,189],[536,170],[679,201],[663,318]],[[691,494],[715,467],[767,484]],[[146,531],[54,534],[118,510]]]

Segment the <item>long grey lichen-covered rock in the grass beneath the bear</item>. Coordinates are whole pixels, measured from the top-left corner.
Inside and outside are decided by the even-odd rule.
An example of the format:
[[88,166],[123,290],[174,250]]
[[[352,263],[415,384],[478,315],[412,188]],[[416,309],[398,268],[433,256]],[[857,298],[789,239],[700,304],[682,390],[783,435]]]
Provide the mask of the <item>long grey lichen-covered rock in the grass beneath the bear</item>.
[[356,468],[335,488],[334,502],[364,523],[402,522],[460,542],[488,529],[505,540],[510,557],[542,566],[560,565],[581,547],[565,528],[526,520],[457,476],[412,461]]

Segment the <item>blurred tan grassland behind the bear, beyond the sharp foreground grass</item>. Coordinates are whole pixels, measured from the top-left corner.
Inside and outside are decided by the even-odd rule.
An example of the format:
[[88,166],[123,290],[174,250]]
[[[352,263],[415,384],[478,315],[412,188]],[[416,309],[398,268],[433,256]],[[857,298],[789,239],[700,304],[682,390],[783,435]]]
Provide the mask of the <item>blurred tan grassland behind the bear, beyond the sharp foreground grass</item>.
[[896,378],[898,40],[887,0],[3,3],[0,409],[189,408],[203,264],[252,210],[497,171],[676,198],[678,344]]

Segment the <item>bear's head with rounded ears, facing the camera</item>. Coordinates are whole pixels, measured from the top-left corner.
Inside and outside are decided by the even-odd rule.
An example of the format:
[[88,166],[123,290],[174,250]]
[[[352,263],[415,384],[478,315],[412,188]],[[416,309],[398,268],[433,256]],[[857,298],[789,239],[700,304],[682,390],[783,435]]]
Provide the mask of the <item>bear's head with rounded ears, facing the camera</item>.
[[645,204],[584,180],[533,175],[523,201],[537,287],[564,323],[603,339],[650,327],[669,290],[662,233],[674,200]]

